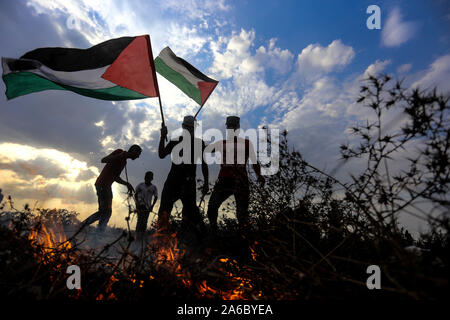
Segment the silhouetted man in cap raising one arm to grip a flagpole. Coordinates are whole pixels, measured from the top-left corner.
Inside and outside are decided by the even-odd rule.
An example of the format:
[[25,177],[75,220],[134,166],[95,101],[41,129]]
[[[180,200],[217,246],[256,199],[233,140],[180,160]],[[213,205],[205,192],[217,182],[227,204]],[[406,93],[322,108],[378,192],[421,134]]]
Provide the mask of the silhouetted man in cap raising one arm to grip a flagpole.
[[180,199],[183,203],[183,224],[194,226],[194,230],[203,228],[203,219],[197,207],[197,190],[195,174],[197,163],[202,165],[202,173],[205,183],[203,192],[208,190],[208,166],[203,161],[203,140],[195,138],[195,120],[193,116],[184,117],[182,124],[183,135],[171,140],[165,146],[167,127],[161,128],[158,154],[161,159],[172,153],[172,166],[164,183],[161,194],[161,204],[158,211],[158,229],[168,227],[170,213],[173,204]]

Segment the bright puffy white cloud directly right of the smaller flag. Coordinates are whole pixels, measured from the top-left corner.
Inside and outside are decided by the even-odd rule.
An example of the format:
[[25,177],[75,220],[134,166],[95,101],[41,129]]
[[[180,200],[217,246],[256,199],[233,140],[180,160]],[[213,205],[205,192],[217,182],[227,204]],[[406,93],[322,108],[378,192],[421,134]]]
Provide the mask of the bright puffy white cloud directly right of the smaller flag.
[[269,70],[277,75],[289,73],[294,67],[294,55],[277,47],[276,39],[255,50],[255,38],[254,30],[241,29],[238,34],[218,37],[210,43],[213,55],[210,72],[221,82],[203,111],[205,117],[243,116],[256,108],[277,103],[287,94],[281,88],[284,80],[275,79],[275,83],[269,85],[266,75]]

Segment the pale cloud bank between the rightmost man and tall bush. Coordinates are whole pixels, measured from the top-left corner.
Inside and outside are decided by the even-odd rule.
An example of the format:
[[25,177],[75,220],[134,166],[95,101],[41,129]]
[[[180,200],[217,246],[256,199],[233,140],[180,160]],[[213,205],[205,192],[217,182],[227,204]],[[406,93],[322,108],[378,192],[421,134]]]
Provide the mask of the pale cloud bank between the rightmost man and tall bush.
[[284,92],[275,107],[283,112],[272,125],[287,129],[290,141],[308,161],[322,168],[336,165],[339,145],[349,139],[346,128],[371,117],[368,108],[356,104],[361,80],[379,74],[389,63],[377,60],[344,81],[322,76],[308,84],[301,98],[294,91]]

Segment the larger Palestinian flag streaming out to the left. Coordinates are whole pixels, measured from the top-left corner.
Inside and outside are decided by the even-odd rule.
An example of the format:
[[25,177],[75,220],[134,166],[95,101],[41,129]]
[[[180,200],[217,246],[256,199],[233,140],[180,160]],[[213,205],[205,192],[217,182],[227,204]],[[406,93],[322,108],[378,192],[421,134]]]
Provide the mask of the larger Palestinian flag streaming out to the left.
[[6,97],[69,90],[103,100],[159,96],[150,37],[123,37],[88,49],[39,48],[2,58]]

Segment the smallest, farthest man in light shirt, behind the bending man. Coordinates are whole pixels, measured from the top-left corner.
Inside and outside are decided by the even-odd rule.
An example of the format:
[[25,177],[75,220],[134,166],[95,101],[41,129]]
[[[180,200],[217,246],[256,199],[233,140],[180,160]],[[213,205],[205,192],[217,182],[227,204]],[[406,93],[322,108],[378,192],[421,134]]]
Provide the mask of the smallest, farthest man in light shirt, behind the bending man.
[[136,207],[138,220],[136,223],[136,240],[142,241],[145,230],[147,230],[147,221],[150,212],[153,211],[153,206],[158,200],[158,190],[152,184],[153,172],[147,171],[145,173],[145,182],[142,182],[136,187]]

